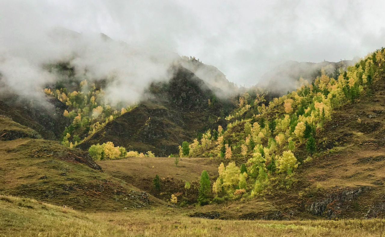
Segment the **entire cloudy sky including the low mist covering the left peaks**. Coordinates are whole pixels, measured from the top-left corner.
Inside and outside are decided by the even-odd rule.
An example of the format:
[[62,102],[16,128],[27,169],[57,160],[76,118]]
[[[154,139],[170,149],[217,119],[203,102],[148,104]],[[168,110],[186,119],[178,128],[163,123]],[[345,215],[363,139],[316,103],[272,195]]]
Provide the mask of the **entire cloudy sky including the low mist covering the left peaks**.
[[339,61],[380,48],[384,8],[376,0],[3,0],[0,93],[33,96],[57,79],[42,65],[69,60],[79,76],[111,78],[111,101],[134,101],[170,76],[172,52],[255,85],[286,60]]

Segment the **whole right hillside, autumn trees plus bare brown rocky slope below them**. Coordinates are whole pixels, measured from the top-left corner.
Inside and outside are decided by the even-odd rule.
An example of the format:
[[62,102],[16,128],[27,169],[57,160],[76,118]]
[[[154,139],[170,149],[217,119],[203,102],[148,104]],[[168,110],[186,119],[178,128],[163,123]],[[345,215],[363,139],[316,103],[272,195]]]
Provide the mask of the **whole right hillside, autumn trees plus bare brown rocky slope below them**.
[[[322,70],[313,82],[303,81],[268,106],[263,94],[255,99],[244,94],[226,117],[226,130],[219,127],[184,144],[181,156],[223,161],[208,197],[219,206],[193,215],[382,217],[384,53],[377,50],[336,71],[337,80]],[[241,211],[238,201],[245,203]]]

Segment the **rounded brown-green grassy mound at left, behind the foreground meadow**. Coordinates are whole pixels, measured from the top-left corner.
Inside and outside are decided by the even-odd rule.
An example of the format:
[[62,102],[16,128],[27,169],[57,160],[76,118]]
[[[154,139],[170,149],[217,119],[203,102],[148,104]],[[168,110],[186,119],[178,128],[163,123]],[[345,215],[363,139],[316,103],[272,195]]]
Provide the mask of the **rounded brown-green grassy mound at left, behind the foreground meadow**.
[[0,194],[89,211],[116,211],[159,202],[101,172],[87,152],[30,138],[0,141]]

